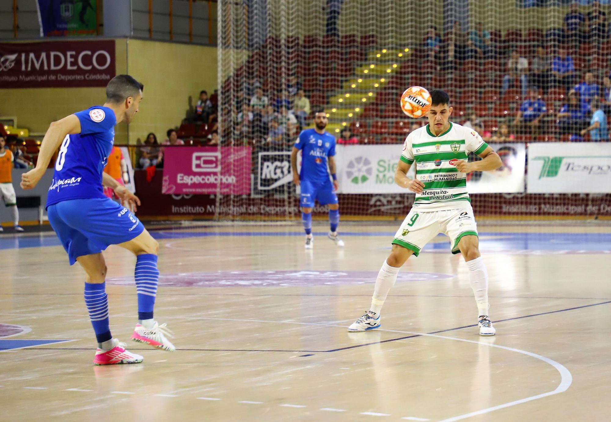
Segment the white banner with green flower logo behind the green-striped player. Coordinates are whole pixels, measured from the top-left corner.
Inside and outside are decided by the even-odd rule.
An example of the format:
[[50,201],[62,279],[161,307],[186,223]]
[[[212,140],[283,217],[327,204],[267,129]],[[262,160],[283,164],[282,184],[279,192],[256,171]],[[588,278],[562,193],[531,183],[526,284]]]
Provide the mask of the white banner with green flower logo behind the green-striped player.
[[[494,172],[469,176],[467,191],[479,193],[524,192],[524,144],[492,144],[500,152],[503,167]],[[402,144],[337,145],[337,180],[342,194],[408,194],[395,184],[395,171],[403,152]],[[408,176],[415,177],[415,166]]]

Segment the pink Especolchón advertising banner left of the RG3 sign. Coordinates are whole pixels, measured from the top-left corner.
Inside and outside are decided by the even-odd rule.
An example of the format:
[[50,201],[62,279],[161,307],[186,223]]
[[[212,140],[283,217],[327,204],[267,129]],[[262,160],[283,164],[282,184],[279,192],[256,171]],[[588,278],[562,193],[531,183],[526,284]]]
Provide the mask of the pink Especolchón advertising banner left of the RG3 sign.
[[165,147],[162,194],[251,193],[251,148]]

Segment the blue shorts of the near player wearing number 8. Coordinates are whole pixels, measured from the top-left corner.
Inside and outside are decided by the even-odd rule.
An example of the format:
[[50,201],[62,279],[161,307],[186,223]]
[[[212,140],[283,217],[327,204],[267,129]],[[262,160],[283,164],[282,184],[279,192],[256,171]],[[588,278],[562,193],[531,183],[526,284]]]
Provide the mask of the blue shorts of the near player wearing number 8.
[[144,225],[127,208],[110,198],[73,199],[47,209],[51,227],[70,258],[100,253],[109,245],[130,241]]

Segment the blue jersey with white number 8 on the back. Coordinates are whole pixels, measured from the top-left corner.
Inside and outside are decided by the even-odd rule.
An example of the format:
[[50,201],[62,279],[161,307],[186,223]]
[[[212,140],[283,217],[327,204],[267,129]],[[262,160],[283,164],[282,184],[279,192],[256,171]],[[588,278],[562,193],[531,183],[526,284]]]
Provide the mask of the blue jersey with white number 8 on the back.
[[102,173],[114,142],[117,118],[108,107],[94,106],[75,113],[81,133],[65,137],[57,155],[46,206],[58,202],[106,198]]

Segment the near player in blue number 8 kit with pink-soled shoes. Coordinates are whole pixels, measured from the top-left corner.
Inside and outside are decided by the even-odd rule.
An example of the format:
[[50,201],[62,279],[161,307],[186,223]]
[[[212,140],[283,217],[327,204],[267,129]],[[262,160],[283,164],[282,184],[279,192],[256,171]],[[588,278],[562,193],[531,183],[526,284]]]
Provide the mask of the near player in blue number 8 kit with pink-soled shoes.
[[[132,340],[174,351],[167,340],[165,324],[153,319],[159,270],[158,242],[142,226],[131,209],[140,200],[104,173],[114,142],[114,126],[130,123],[142,101],[143,85],[129,75],[112,78],[106,86],[106,103],[71,114],[51,123],[40,147],[36,167],[21,177],[21,187],[32,189],[45,173],[59,148],[46,209],[49,222],[68,253],[70,265],[78,262],[87,273],[85,304],[97,338],[93,363],[139,363],[142,356],[125,350],[109,328],[106,296],[106,263],[102,251],[118,245],[136,255],[138,323]],[[130,209],[107,198],[103,186]]]

